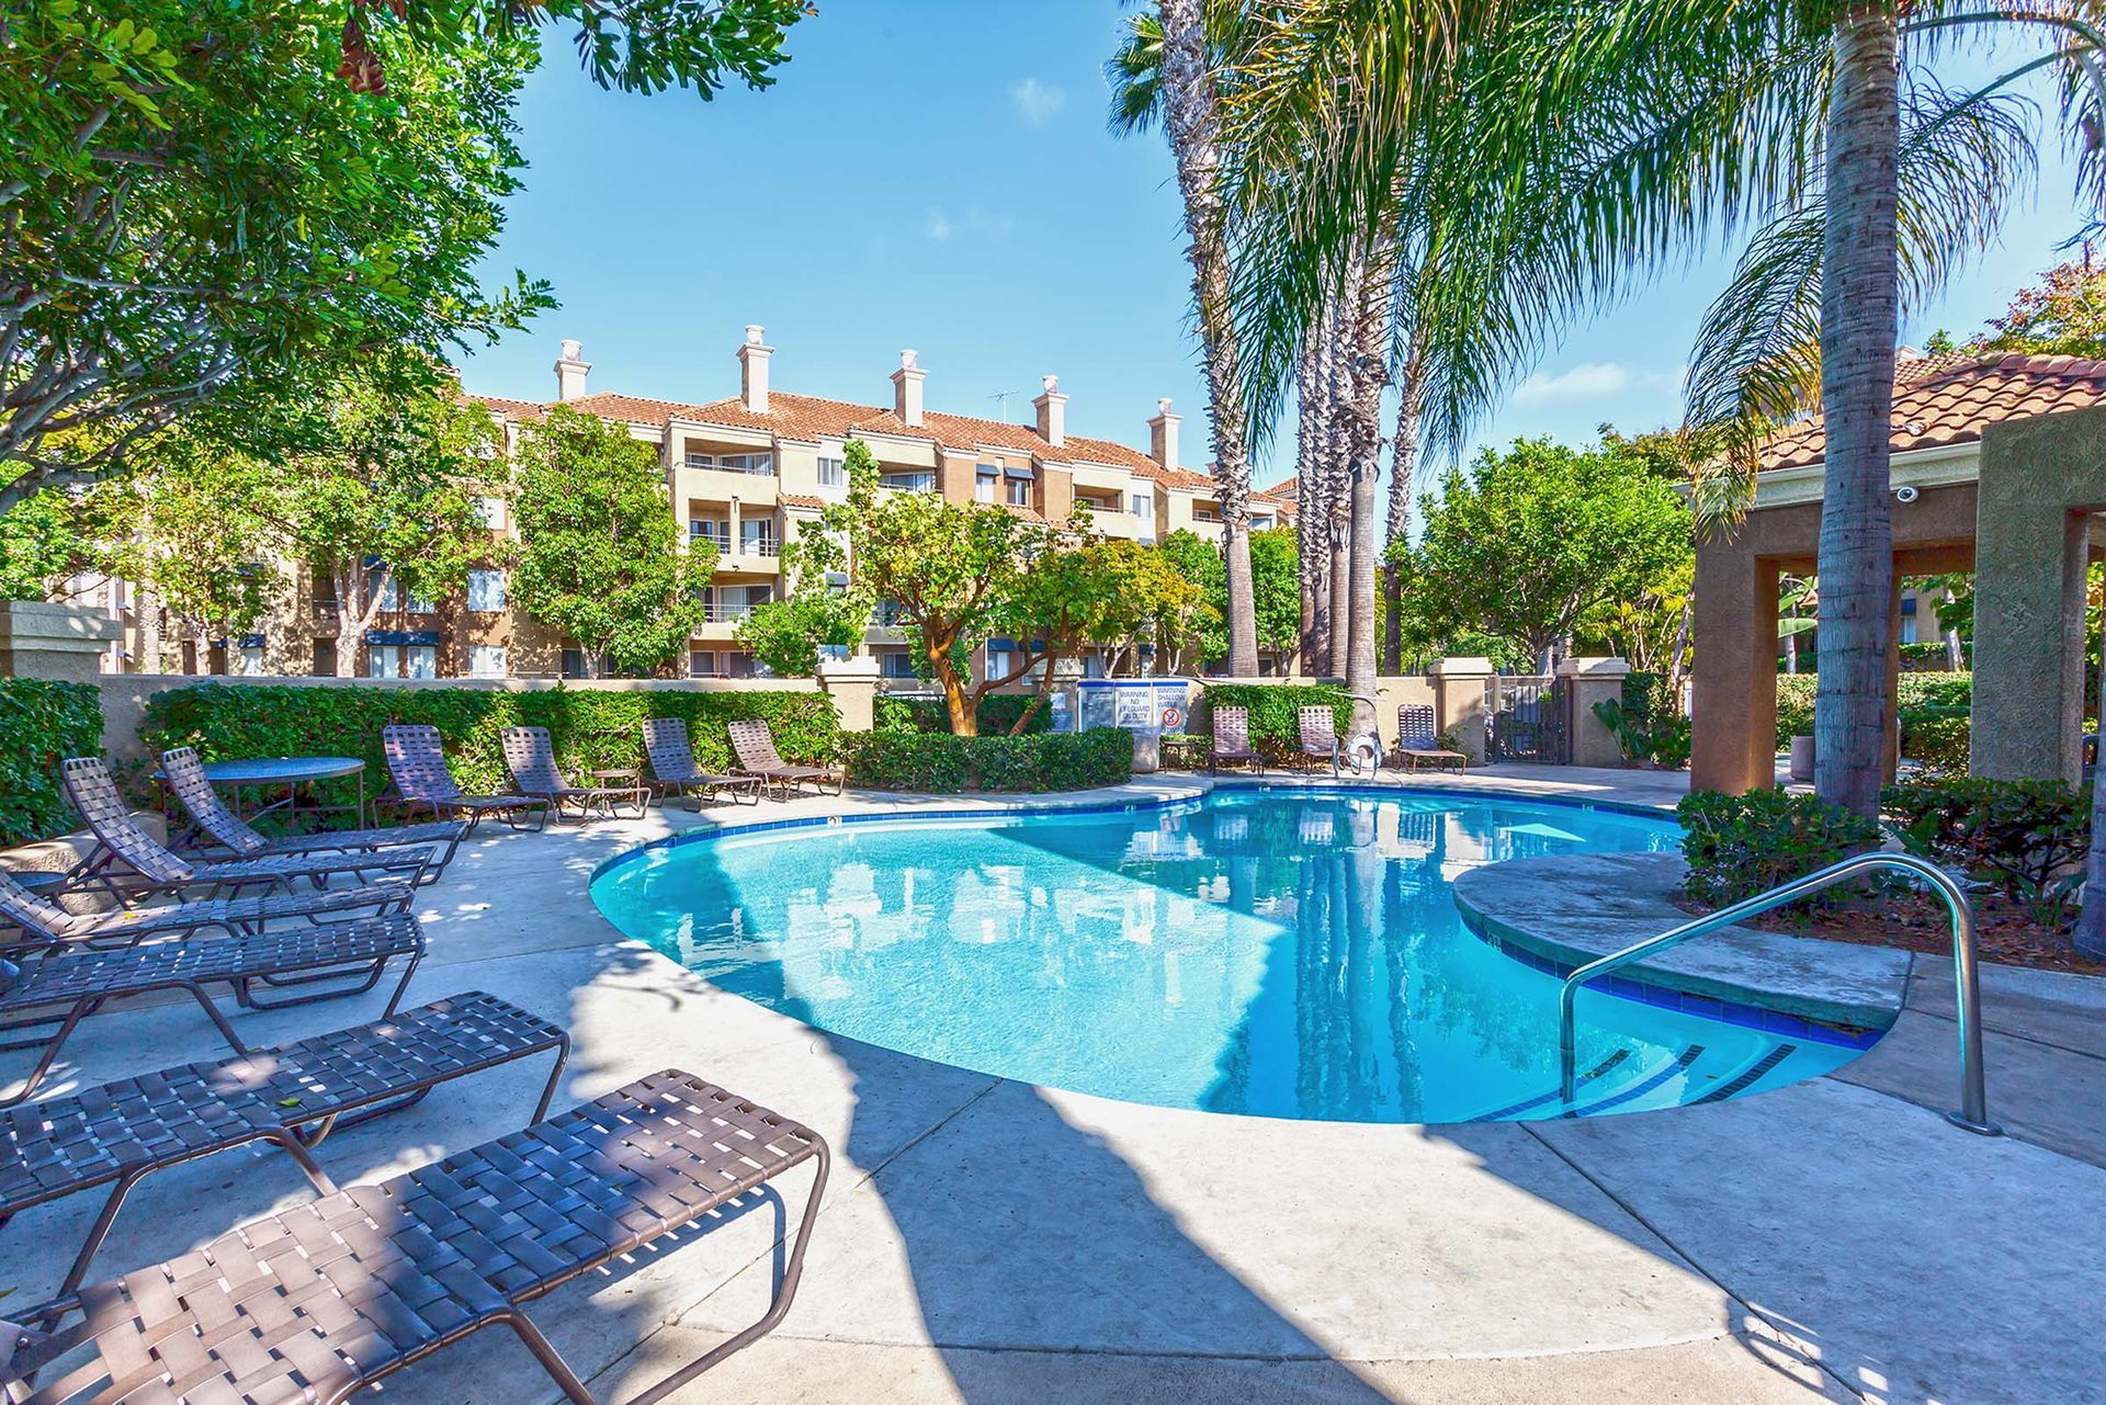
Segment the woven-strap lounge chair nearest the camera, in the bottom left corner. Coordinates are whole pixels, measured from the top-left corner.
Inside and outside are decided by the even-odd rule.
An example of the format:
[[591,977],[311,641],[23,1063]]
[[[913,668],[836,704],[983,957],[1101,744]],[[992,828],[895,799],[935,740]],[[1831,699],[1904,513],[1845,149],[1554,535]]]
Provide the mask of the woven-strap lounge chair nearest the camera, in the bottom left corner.
[[[708,1224],[807,1161],[811,1199],[767,1312],[634,1397],[647,1405],[790,1310],[828,1173],[819,1133],[674,1070],[438,1165],[253,1220],[156,1268],[11,1312],[65,1325],[21,1331],[0,1382],[17,1382],[21,1397],[11,1399],[27,1405],[337,1405],[472,1331],[505,1325],[564,1397],[592,1405],[526,1304]],[[46,1369],[51,1384],[25,1384]]]

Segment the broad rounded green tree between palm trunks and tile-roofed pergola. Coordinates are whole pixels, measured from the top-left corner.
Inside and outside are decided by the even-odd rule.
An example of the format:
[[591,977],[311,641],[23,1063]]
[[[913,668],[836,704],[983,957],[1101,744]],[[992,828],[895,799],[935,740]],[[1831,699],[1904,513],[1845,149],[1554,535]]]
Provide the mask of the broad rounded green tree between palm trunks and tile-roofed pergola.
[[1617,602],[1666,590],[1689,558],[1689,512],[1630,453],[1548,438],[1451,470],[1426,533],[1398,554],[1413,638],[1491,634],[1548,670]]

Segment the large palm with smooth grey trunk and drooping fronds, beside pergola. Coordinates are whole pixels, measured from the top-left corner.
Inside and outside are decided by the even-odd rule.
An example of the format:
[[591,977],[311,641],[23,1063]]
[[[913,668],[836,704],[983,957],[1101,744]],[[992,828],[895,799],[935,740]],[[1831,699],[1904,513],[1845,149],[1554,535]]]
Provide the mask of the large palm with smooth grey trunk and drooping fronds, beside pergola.
[[[1759,225],[1706,326],[1691,413],[1708,421],[1727,388],[1725,417],[1748,434],[1721,480],[1746,484],[1756,426],[1815,402],[1826,411],[1822,653],[1834,649],[1834,664],[1820,682],[1820,792],[1870,813],[1887,712],[1900,310],[1982,249],[1999,196],[2024,187],[2009,179],[2030,173],[2032,156],[2005,101],[2015,78],[2058,67],[2064,112],[2093,131],[2106,118],[2091,65],[2100,11],[2098,0],[1994,11],[1333,0],[1247,46],[1230,84],[1232,150],[1268,154],[1245,139],[1253,120],[1293,133],[1295,160],[1274,160],[1270,179],[1289,171],[1274,200],[1295,215],[1297,263],[1342,257],[1384,194],[1413,192],[1413,246],[1422,261],[1438,249],[1438,276],[1409,305],[1432,444],[1459,442],[1571,312],[1706,236]],[[1902,67],[1904,36],[1933,53],[1938,36],[1984,23],[2045,27],[2064,46],[1959,95]],[[1438,154],[1430,169],[1428,154]],[[2091,145],[2085,160],[2095,198],[2106,181]],[[1710,506],[1735,499],[1746,501],[1700,493]]]

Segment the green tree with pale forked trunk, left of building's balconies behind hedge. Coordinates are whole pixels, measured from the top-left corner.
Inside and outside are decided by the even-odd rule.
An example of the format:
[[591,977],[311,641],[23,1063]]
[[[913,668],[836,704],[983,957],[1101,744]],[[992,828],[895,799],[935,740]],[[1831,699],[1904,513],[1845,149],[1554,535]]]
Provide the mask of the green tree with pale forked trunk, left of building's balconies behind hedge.
[[329,573],[337,676],[352,678],[390,598],[438,600],[491,560],[478,499],[503,493],[503,436],[415,352],[347,375],[318,415],[278,428],[297,449],[267,474],[261,512],[297,560]]

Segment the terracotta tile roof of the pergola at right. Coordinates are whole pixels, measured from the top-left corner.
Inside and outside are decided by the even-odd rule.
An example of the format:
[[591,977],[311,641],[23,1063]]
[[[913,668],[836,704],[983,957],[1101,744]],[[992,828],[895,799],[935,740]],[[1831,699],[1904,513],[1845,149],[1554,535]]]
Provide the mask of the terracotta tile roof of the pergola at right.
[[[2106,360],[2079,356],[1925,356],[1898,367],[1893,453],[1971,444],[2003,419],[2106,404]],[[1763,468],[1803,468],[1828,453],[1826,423],[1809,415],[1763,447]]]

